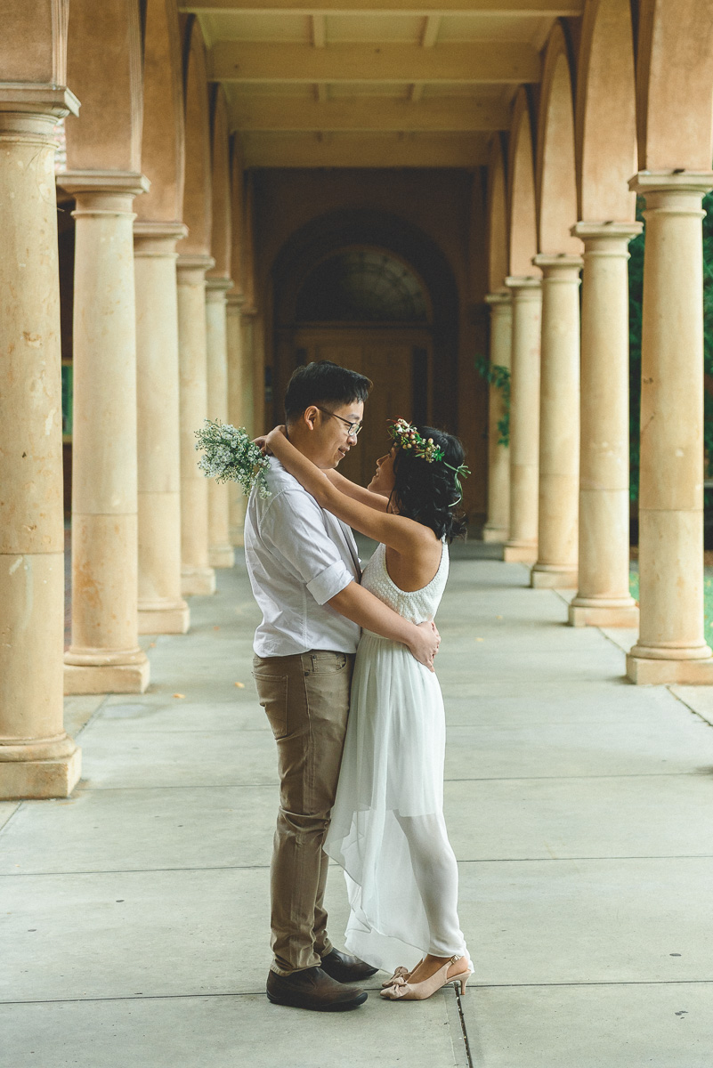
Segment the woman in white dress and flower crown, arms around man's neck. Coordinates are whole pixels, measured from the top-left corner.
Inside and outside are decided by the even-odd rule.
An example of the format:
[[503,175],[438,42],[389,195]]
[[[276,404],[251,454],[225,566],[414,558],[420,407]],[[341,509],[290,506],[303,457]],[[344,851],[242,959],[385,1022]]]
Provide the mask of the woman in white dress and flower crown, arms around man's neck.
[[[468,474],[460,442],[398,420],[364,490],[324,472],[275,427],[266,445],[321,507],[379,541],[362,584],[414,623],[432,618]],[[364,631],[324,843],[345,869],[346,947],[387,971],[383,998],[423,1000],[472,974],[457,913],[458,867],[443,819],[445,717],[435,675],[400,644]]]

